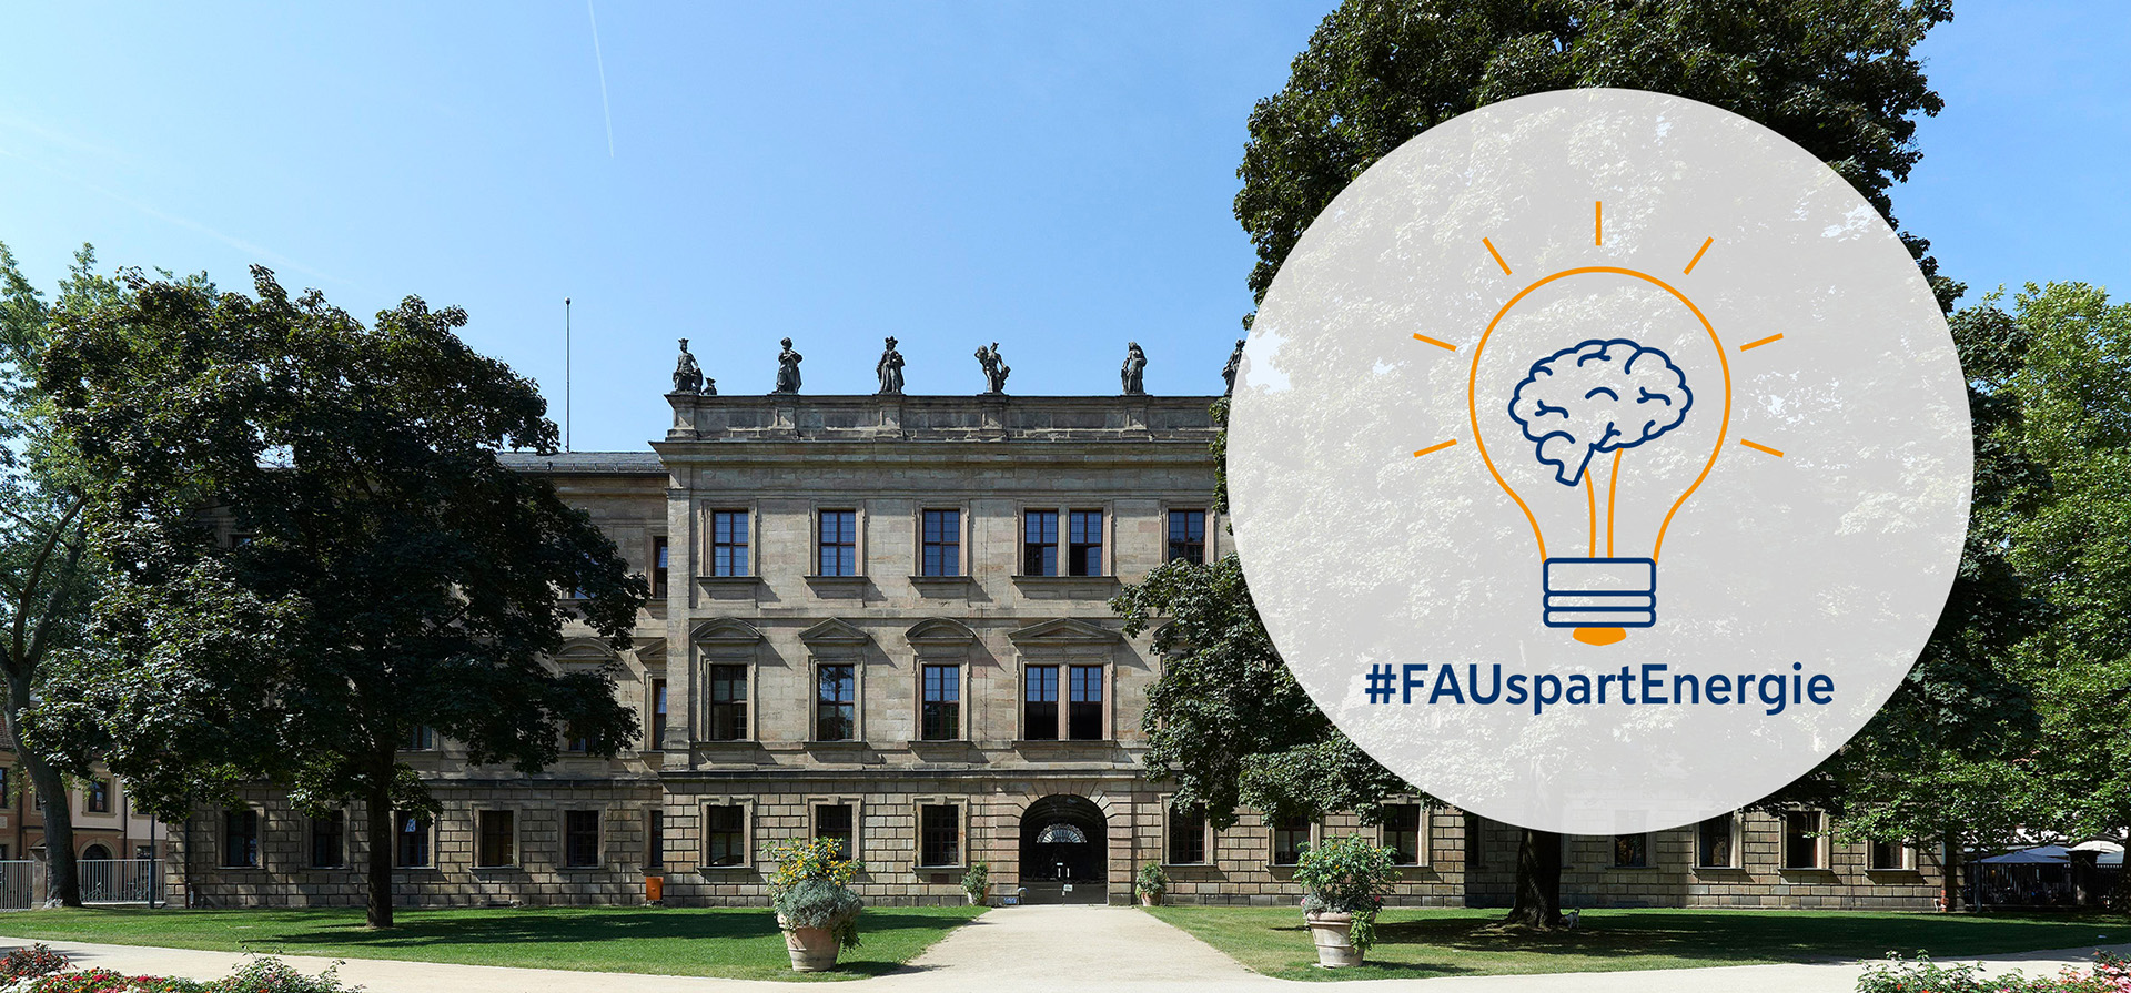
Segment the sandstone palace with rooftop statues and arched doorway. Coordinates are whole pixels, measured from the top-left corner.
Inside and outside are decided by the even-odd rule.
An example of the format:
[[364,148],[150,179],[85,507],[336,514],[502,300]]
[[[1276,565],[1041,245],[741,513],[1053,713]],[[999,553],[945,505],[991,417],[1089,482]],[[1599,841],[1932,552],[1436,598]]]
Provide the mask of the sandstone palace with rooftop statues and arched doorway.
[[[650,452],[507,456],[554,479],[639,563],[654,597],[618,658],[578,631],[560,667],[620,667],[644,739],[565,748],[537,776],[471,767],[416,729],[405,759],[441,799],[394,837],[307,818],[271,788],[173,825],[173,901],[362,901],[362,852],[390,844],[401,904],[765,904],[767,848],[829,835],[876,904],[1129,901],[1164,863],[1170,901],[1296,904],[1298,850],[1362,831],[1406,863],[1394,904],[1507,906],[1517,831],[1394,805],[1225,831],[1142,771],[1140,714],[1161,658],[1108,609],[1121,584],[1230,541],[1213,509],[1215,396],[718,396],[684,354],[673,426]],[[891,381],[893,373],[893,381]],[[891,388],[893,386],[893,388]],[[1937,852],[1843,844],[1826,818],[1735,814],[1566,840],[1566,906],[1929,910]],[[188,897],[190,895],[190,897]]]

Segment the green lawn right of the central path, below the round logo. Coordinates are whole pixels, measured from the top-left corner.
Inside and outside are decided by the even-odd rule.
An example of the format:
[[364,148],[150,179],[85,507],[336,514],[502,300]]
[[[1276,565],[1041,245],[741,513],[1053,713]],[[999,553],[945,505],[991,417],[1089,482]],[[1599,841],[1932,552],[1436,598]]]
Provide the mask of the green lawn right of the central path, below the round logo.
[[1502,910],[1385,910],[1355,970],[1319,970],[1300,908],[1153,908],[1266,976],[1381,980],[1532,972],[1686,970],[1773,961],[2027,953],[2131,942],[2101,914],[1875,914],[1854,910],[1585,910],[1577,931],[1492,927]]

